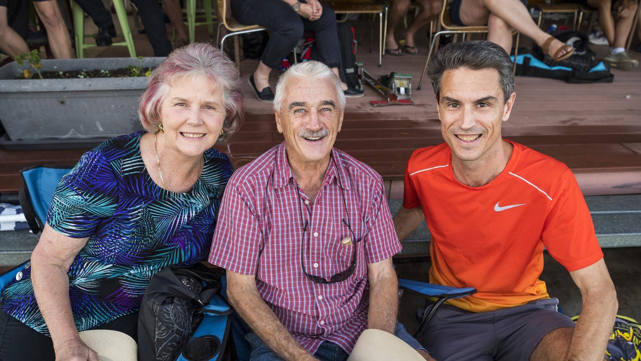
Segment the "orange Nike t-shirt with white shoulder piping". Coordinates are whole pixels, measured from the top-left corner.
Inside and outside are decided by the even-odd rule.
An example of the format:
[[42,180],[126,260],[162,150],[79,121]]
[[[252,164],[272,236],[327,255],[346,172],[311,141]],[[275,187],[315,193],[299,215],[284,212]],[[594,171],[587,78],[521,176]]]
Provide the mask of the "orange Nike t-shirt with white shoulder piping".
[[422,207],[432,234],[429,281],[474,287],[448,301],[487,312],[547,298],[543,247],[567,270],[603,258],[581,189],[565,164],[508,141],[512,157],[492,182],[466,186],[454,177],[446,143],[413,152],[403,207]]

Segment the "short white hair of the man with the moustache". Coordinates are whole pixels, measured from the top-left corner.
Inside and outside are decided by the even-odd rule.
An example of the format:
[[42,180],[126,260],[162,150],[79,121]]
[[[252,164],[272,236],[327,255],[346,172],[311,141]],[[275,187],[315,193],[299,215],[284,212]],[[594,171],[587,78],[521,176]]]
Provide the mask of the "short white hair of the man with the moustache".
[[285,98],[285,85],[290,79],[322,80],[328,79],[333,82],[336,96],[338,98],[338,107],[340,110],[345,109],[345,93],[340,84],[340,79],[325,64],[316,61],[298,63],[285,71],[278,79],[276,84],[276,94],[274,94],[274,111],[280,113],[283,98]]

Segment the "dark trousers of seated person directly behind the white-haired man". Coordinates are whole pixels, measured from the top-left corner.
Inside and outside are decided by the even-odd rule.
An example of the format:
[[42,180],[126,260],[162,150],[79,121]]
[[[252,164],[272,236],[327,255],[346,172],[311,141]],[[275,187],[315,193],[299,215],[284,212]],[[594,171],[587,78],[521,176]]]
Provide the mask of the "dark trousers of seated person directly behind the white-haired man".
[[282,0],[231,0],[231,12],[242,24],[258,24],[271,31],[260,60],[272,69],[278,69],[281,59],[294,49],[305,30],[315,33],[320,61],[329,67],[340,66],[336,14],[325,5],[317,21],[300,17]]

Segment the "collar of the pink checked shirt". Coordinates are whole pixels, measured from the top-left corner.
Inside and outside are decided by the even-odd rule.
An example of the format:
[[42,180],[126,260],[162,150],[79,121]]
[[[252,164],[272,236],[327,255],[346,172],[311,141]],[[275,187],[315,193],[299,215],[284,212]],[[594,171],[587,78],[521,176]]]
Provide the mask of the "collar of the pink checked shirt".
[[[331,182],[338,182],[343,189],[349,190],[349,174],[343,165],[342,157],[337,152],[336,148],[331,148],[331,157],[334,161],[329,159],[329,166],[322,184],[329,184]],[[337,172],[338,166],[338,172]],[[340,175],[340,182],[338,181],[337,174]],[[274,188],[283,188],[290,180],[294,178],[292,168],[287,161],[287,151],[285,149],[285,142],[281,143],[276,149],[276,164],[274,165]]]

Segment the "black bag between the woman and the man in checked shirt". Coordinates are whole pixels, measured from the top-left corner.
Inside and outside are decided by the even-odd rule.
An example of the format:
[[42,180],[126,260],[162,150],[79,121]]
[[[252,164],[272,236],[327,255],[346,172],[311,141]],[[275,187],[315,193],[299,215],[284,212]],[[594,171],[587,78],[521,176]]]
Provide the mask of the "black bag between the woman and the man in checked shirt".
[[200,263],[191,269],[167,266],[156,273],[138,313],[138,360],[176,360],[203,312],[231,313],[231,307],[228,312],[204,309],[220,289],[221,276]]

